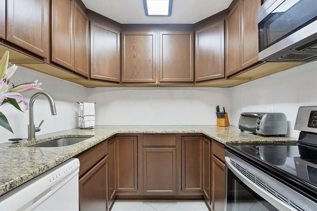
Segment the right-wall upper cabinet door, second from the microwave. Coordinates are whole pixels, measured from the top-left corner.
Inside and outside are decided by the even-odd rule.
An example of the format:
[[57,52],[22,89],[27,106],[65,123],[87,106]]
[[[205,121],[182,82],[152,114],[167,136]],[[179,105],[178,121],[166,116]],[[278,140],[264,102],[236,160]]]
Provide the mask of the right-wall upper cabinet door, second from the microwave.
[[240,2],[230,11],[226,20],[226,76],[240,70]]

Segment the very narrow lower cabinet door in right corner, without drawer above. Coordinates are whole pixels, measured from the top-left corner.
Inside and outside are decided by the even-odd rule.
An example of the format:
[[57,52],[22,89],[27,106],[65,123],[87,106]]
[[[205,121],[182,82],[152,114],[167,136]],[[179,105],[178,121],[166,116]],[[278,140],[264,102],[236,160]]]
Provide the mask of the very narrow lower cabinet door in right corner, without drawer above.
[[203,194],[210,204],[210,140],[204,138],[203,143]]

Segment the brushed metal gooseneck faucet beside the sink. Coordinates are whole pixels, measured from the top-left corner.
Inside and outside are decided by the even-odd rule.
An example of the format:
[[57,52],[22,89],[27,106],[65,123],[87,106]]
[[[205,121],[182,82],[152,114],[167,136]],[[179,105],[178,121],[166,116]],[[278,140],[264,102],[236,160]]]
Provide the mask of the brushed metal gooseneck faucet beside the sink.
[[53,98],[45,92],[38,92],[35,93],[31,99],[30,99],[30,103],[29,103],[29,125],[28,125],[28,140],[36,140],[35,138],[35,132],[38,132],[41,130],[41,125],[44,122],[44,120],[42,120],[42,122],[40,123],[40,125],[38,127],[35,127],[34,125],[34,116],[33,116],[33,105],[34,105],[34,101],[36,100],[36,98],[38,98],[39,96],[44,96],[49,100],[49,105],[50,105],[50,109],[51,109],[51,114],[52,115],[56,115],[56,108],[55,108],[55,102],[53,100]]

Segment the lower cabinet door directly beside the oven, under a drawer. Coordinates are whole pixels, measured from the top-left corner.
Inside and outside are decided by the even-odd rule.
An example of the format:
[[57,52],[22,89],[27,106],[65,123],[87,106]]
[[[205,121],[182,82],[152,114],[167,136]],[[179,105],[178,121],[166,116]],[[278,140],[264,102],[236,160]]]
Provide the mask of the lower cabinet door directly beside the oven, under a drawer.
[[225,204],[225,165],[212,155],[212,210],[224,210]]

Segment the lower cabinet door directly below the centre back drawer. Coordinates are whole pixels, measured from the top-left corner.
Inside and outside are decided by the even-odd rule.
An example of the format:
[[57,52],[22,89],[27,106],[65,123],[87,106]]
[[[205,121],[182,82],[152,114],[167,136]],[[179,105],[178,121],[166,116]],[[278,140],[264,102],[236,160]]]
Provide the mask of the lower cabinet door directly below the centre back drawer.
[[143,194],[176,195],[176,148],[143,149]]

